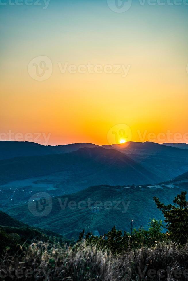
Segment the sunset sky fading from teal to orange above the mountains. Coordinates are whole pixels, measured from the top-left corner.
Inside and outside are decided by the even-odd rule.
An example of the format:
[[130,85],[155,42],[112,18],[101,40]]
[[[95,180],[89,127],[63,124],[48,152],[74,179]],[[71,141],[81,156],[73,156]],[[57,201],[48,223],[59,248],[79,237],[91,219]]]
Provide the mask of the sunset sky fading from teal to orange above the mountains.
[[188,143],[188,0],[117,2],[0,1],[0,140]]

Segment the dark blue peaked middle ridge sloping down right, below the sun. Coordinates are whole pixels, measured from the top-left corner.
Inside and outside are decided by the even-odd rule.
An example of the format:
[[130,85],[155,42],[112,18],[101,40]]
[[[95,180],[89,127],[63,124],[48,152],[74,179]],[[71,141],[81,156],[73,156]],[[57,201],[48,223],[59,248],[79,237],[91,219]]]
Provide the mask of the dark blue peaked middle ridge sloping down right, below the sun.
[[41,175],[58,173],[74,185],[80,180],[80,188],[96,184],[154,183],[157,176],[136,161],[115,149],[81,148],[77,151],[16,157],[0,161],[0,184]]

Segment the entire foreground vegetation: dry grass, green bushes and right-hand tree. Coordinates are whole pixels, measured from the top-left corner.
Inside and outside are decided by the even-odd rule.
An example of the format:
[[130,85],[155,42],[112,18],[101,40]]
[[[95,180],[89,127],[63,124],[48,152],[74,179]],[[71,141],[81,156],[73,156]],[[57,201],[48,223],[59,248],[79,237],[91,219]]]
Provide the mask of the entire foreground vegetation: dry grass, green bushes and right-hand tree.
[[188,280],[186,192],[175,197],[174,205],[154,201],[168,232],[162,232],[162,221],[150,219],[147,230],[133,228],[131,221],[130,233],[123,235],[115,227],[100,237],[83,230],[74,245],[51,238],[17,245],[1,255],[1,280]]

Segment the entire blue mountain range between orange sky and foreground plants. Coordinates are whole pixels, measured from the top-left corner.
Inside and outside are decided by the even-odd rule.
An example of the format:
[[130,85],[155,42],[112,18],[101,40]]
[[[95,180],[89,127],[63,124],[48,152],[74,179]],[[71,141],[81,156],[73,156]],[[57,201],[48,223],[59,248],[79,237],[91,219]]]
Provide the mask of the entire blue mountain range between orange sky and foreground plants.
[[[188,185],[188,149],[157,143],[91,143],[43,146],[0,141],[0,208],[23,223],[77,238],[80,231],[101,235],[114,225],[126,231],[130,220],[147,228],[149,217],[162,219],[153,197],[165,204]],[[53,208],[45,217],[28,210],[31,196],[46,192]],[[122,210],[62,210],[60,201],[121,203]],[[128,204],[128,205],[127,205]],[[125,209],[123,209],[125,210]],[[137,211],[135,211],[137,210]]]

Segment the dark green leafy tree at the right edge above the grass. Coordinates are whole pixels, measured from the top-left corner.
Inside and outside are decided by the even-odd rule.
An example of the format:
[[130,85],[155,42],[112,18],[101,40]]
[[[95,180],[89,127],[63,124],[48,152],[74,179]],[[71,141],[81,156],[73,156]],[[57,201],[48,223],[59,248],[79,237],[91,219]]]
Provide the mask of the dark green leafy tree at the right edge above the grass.
[[170,239],[179,241],[180,243],[187,243],[188,238],[188,208],[186,201],[187,192],[182,191],[174,199],[174,205],[165,205],[159,201],[159,198],[154,197],[157,208],[162,211],[167,223],[167,229]]

